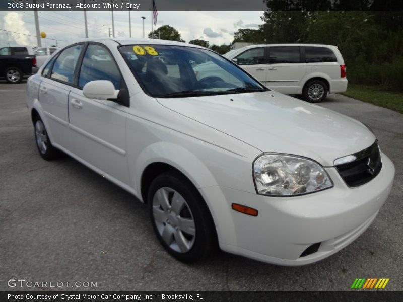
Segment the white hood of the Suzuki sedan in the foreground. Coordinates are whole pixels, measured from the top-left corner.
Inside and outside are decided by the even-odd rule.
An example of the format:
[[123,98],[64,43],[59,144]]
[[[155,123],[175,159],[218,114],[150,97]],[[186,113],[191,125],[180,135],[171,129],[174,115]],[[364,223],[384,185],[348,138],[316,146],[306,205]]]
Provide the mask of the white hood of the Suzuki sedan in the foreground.
[[375,141],[359,121],[274,91],[157,100],[261,152],[299,155],[323,166]]

